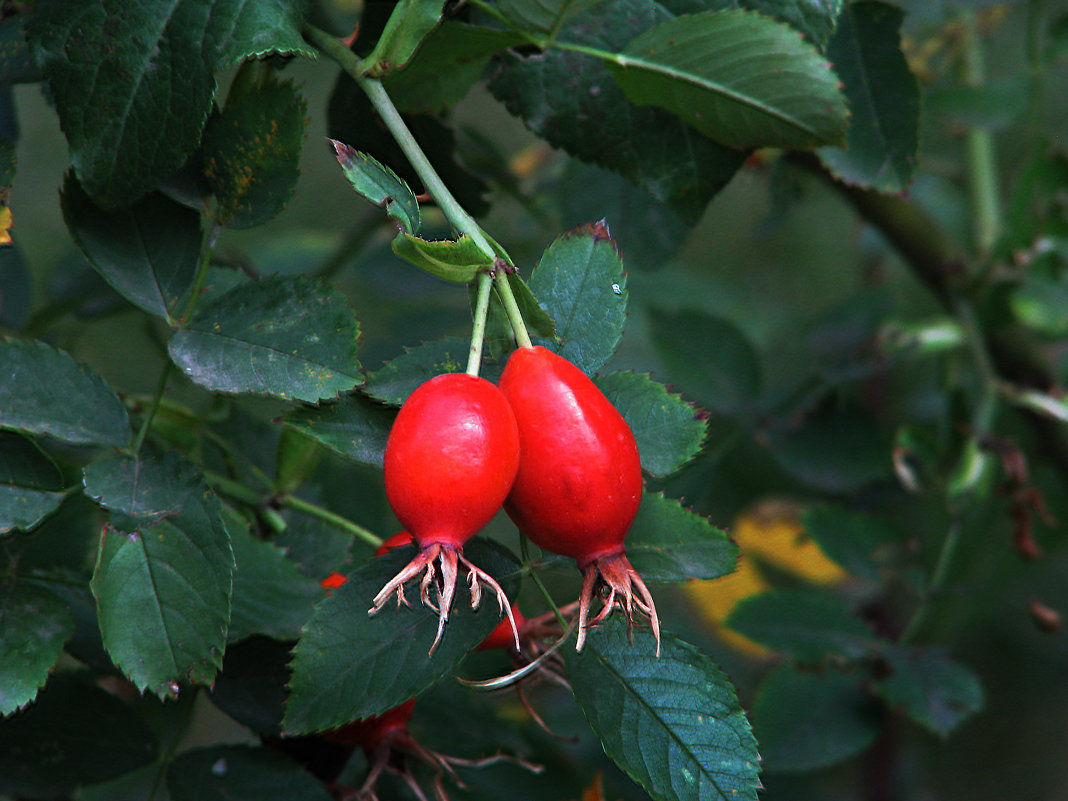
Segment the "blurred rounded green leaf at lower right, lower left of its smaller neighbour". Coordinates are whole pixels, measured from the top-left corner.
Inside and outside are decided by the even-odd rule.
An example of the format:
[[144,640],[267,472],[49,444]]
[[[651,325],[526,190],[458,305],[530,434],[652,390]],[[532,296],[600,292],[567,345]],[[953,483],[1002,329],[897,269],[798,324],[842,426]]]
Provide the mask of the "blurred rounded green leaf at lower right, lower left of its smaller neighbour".
[[764,679],[753,729],[768,772],[818,770],[866,751],[879,735],[879,708],[841,673],[799,673],[788,664]]

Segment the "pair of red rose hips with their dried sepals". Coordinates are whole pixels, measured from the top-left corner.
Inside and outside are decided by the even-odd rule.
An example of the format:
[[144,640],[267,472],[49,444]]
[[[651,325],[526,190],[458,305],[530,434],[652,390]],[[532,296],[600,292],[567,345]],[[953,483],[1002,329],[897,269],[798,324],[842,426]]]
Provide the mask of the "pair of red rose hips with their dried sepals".
[[[394,592],[404,600],[404,584],[424,574],[423,602],[439,615],[433,651],[462,564],[472,607],[483,583],[512,619],[501,587],[462,554],[464,544],[503,504],[534,543],[578,562],[583,574],[579,649],[588,626],[618,602],[628,614],[637,606],[649,617],[659,651],[653,598],[624,550],[642,496],[634,435],[593,381],[566,359],[543,347],[520,347],[508,359],[499,387],[462,373],[431,378],[400,408],[386,445],[384,469],[387,498],[420,553],[375,596],[372,612]],[[598,580],[608,585],[609,597],[590,621]],[[514,621],[512,628],[518,648]]]

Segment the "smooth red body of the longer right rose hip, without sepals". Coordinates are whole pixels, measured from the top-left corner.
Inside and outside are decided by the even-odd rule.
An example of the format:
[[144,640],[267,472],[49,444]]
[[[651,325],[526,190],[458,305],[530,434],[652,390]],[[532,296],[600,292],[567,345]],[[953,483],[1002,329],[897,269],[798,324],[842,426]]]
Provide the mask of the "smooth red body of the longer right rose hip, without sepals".
[[499,382],[519,426],[519,472],[504,508],[541,548],[585,567],[621,553],[642,499],[634,435],[585,373],[537,346]]

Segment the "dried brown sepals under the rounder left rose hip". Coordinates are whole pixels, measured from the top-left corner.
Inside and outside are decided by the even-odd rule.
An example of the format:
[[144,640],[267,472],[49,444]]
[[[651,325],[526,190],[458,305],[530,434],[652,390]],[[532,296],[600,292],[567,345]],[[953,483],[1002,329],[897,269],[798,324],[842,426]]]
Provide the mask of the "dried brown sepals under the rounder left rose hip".
[[[464,555],[462,548],[456,548],[443,543],[431,543],[415,554],[400,571],[386,582],[386,585],[378,591],[374,598],[374,603],[367,614],[376,614],[382,610],[390,596],[396,593],[397,607],[402,604],[408,607],[408,599],[405,597],[404,587],[409,581],[423,574],[419,582],[419,596],[423,603],[438,613],[438,633],[430,644],[428,656],[433,656],[441,642],[441,637],[445,632],[445,624],[449,623],[449,612],[453,608],[453,598],[456,596],[456,581],[459,577],[460,566],[467,568],[468,586],[471,592],[471,609],[477,609],[482,602],[482,587],[486,586],[494,596],[501,608],[501,614],[508,616],[512,624],[512,633],[516,639],[516,649],[519,648],[519,630],[516,627],[516,619],[512,615],[512,603],[508,596],[504,594],[501,585],[497,583],[492,576],[476,567]],[[433,593],[433,597],[431,597]]]

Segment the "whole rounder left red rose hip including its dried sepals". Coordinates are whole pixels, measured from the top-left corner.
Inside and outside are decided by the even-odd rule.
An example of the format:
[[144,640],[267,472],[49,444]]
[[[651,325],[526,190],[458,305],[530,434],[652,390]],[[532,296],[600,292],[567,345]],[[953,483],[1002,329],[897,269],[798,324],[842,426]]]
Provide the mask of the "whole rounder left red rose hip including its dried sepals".
[[447,373],[412,392],[386,442],[386,497],[420,551],[378,592],[371,614],[394,593],[397,603],[407,603],[404,586],[422,574],[420,597],[438,613],[433,654],[449,621],[462,566],[471,608],[478,606],[485,585],[497,596],[501,613],[508,615],[518,647],[507,596],[488,572],[464,556],[464,544],[501,507],[518,468],[515,415],[492,383]]

